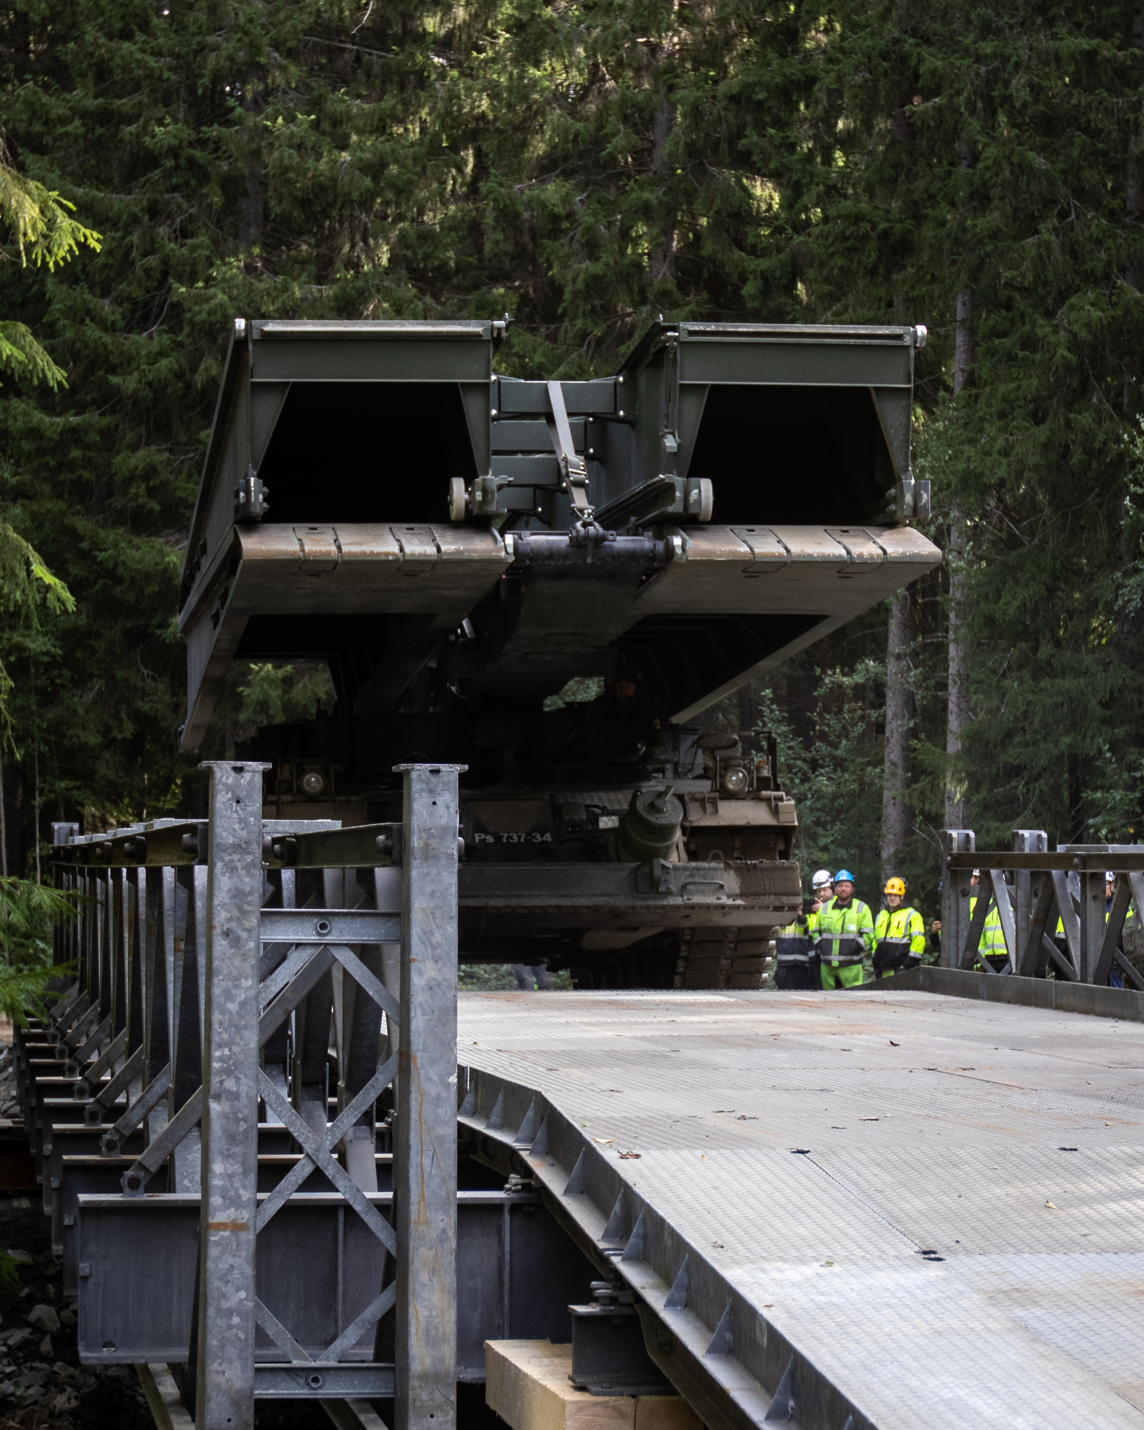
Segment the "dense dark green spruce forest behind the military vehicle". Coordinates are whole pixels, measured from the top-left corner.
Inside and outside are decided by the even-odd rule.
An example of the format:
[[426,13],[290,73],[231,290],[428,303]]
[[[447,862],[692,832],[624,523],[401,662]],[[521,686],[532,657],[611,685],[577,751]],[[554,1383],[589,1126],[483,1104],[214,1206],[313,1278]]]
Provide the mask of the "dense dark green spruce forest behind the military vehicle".
[[76,599],[0,618],[6,871],[200,799],[176,588],[235,316],[508,310],[499,370],[565,379],[659,313],[925,323],[944,569],[718,714],[867,897],[931,899],[948,825],[1134,839],[1143,80],[1137,0],[0,6],[9,160],[100,235],[50,270],[0,235],[0,316],[66,373],[7,365],[0,523]]

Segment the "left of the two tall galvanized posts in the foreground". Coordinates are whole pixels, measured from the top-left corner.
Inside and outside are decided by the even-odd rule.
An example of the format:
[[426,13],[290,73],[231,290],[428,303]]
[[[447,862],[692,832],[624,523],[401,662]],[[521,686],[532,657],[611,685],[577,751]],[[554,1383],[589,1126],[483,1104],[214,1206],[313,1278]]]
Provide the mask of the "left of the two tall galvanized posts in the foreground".
[[199,1430],[253,1430],[262,774],[212,761],[206,928]]

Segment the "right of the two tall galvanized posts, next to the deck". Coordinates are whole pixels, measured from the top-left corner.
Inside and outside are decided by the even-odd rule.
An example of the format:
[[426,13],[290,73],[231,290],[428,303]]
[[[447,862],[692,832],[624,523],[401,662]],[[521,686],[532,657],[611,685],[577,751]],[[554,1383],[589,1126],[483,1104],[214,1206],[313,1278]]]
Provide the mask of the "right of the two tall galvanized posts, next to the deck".
[[398,1430],[456,1423],[456,868],[463,765],[405,772],[393,1193]]

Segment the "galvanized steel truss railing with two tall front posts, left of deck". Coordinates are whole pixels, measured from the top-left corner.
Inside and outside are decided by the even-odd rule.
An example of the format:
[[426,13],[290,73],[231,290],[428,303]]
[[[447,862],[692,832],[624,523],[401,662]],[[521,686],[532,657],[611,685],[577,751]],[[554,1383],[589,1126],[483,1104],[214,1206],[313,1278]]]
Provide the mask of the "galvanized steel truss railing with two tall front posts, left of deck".
[[[450,1430],[463,766],[399,766],[402,825],[350,829],[265,824],[266,766],[204,768],[209,821],[76,841],[66,849],[74,857],[57,864],[57,884],[87,895],[59,945],[57,961],[79,964],[49,1020],[66,1060],[61,1081],[73,1080],[93,1131],[126,1095],[126,1111],[102,1128],[100,1148],[127,1164],[124,1201],[144,1197],[164,1167],[169,1191],[199,1195],[186,1350],[193,1383],[183,1383],[199,1430],[249,1430],[255,1399],[277,1396],[392,1396],[399,1430]],[[57,831],[61,844],[69,837]],[[200,841],[209,841],[204,864]],[[339,1090],[329,1121],[332,1012]],[[388,1218],[389,1198],[378,1195],[375,1104],[390,1085]],[[36,1088],[37,1097],[51,1091],[43,1078]],[[44,1135],[57,1115],[40,1118]],[[260,1190],[267,1133],[295,1153],[277,1158],[293,1164]],[[342,1317],[339,1263],[340,1333],[317,1347],[263,1304],[256,1271],[259,1234],[283,1208],[297,1210],[305,1198],[296,1194],[315,1173],[385,1248],[376,1294],[355,1316]],[[77,1274],[84,1277],[83,1263]],[[393,1330],[383,1337],[378,1323],[390,1310]],[[114,1351],[113,1340],[107,1346]]]

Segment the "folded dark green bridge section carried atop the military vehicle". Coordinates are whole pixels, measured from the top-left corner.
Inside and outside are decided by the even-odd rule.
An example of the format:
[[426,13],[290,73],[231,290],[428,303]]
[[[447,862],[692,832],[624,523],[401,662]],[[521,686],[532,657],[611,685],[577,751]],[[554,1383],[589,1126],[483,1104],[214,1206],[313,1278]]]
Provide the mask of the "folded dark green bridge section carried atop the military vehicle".
[[635,658],[674,721],[931,569],[924,329],[655,325],[611,378],[498,376],[503,323],[239,320],[183,571],[184,748],[230,661],[395,711]]

